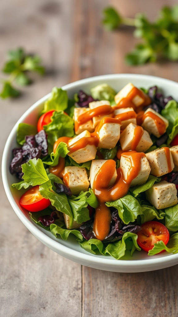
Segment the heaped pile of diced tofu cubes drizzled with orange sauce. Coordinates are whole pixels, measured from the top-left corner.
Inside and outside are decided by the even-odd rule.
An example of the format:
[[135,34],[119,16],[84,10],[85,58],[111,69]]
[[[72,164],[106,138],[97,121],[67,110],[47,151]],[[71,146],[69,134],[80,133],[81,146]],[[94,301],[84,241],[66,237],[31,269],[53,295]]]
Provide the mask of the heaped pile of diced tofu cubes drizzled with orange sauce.
[[[135,89],[135,90],[134,90]],[[135,91],[135,95],[132,92]],[[128,106],[120,107],[122,101],[128,98]],[[130,175],[133,167],[132,156],[128,151],[135,150],[137,152],[145,153],[152,145],[150,135],[153,134],[159,138],[166,132],[168,127],[168,120],[162,115],[156,113],[153,109],[148,108],[143,113],[143,119],[140,126],[137,126],[137,109],[140,106],[145,106],[146,99],[144,93],[138,88],[134,87],[132,83],[127,84],[115,96],[117,106],[111,106],[109,101],[100,100],[89,103],[88,108],[75,108],[74,120],[78,120],[80,115],[87,113],[91,109],[96,109],[101,106],[110,106],[111,113],[106,115],[98,115],[90,117],[88,121],[81,125],[75,125],[76,136],[68,142],[68,149],[70,156],[78,164],[92,161],[90,168],[90,175],[87,175],[85,168],[76,166],[66,166],[64,170],[64,183],[70,187],[73,195],[77,195],[80,191],[87,191],[89,186],[94,189],[94,180],[102,165],[106,162],[104,159],[95,159],[97,150],[113,149],[116,145],[120,146],[126,155],[121,155],[120,168],[124,179]],[[148,101],[148,100],[147,100]],[[133,107],[132,107],[133,104]],[[148,103],[147,103],[148,104]],[[103,121],[103,118],[114,118]],[[83,121],[82,121],[83,122]],[[162,123],[162,129],[159,124]],[[138,129],[139,127],[139,129]],[[121,129],[121,130],[120,130]],[[139,133],[138,133],[139,131]],[[135,143],[136,135],[140,134],[138,143]],[[98,138],[98,143],[87,142],[92,138]],[[85,142],[86,141],[86,142]],[[80,147],[79,145],[82,144]],[[133,148],[136,144],[136,148]],[[71,150],[74,148],[74,151]],[[146,155],[146,156],[145,156]],[[138,186],[144,184],[149,174],[156,177],[161,177],[171,171],[178,171],[178,146],[173,146],[170,149],[162,147],[154,151],[144,154],[140,159],[140,171],[136,177],[131,181],[130,186]],[[110,171],[108,171],[109,173]],[[88,179],[89,176],[89,179]],[[109,186],[113,186],[117,179],[117,170],[111,175],[111,182]],[[175,184],[161,181],[154,184],[146,191],[147,200],[157,209],[173,206],[178,203],[177,190]],[[69,228],[69,218],[64,215],[67,228]],[[73,228],[79,227],[80,224],[74,222]],[[71,229],[71,228],[70,228]]]

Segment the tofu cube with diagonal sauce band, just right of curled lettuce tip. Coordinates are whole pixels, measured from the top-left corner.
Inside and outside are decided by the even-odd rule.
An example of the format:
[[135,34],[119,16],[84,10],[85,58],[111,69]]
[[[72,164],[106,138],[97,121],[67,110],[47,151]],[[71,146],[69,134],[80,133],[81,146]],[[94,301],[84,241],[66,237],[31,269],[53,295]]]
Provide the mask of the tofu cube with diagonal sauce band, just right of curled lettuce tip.
[[[87,138],[91,137],[91,133],[87,130],[83,131],[73,139],[68,142],[68,150],[70,151],[70,146],[74,144],[77,147],[77,150],[74,152],[69,152],[68,156],[74,159],[77,163],[84,163],[95,159],[97,148],[94,144],[87,144]],[[86,138],[86,142],[85,142]],[[81,140],[82,139],[82,140]],[[84,141],[85,146],[82,146],[82,141]],[[81,147],[80,147],[81,146]]]

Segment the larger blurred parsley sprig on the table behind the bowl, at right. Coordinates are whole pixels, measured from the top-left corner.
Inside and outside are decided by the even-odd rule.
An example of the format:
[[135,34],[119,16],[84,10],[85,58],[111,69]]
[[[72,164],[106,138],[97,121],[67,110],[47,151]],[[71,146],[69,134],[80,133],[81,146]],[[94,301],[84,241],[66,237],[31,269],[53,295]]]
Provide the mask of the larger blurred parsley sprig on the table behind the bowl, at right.
[[141,65],[155,62],[160,57],[178,61],[178,5],[163,7],[154,23],[138,13],[134,19],[125,18],[112,7],[104,11],[102,23],[108,30],[118,29],[121,24],[134,26],[134,36],[143,42],[125,56],[129,65]]

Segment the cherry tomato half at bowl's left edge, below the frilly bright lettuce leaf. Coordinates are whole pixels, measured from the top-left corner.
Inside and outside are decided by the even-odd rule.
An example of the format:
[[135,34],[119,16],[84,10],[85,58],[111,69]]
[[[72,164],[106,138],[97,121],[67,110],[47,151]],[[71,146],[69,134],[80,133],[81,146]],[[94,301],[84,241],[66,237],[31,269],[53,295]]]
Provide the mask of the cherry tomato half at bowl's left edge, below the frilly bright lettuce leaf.
[[20,198],[19,203],[23,208],[32,212],[43,210],[51,204],[49,199],[41,196],[39,192],[39,185],[36,185],[26,191]]

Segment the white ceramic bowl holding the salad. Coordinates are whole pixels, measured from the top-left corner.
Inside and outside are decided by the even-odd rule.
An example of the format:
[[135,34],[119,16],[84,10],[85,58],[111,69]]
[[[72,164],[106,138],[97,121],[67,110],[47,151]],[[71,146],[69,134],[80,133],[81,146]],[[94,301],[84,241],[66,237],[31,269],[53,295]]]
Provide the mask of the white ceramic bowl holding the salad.
[[[137,87],[151,87],[157,85],[160,87],[165,96],[171,95],[175,100],[178,100],[178,83],[167,79],[162,79],[154,76],[137,75],[137,74],[111,74],[96,76],[73,82],[62,87],[67,90],[68,96],[78,92],[79,89],[90,93],[90,89],[101,83],[107,83],[116,91],[123,88],[128,82],[132,82]],[[98,268],[113,272],[144,272],[156,269],[166,268],[178,264],[178,254],[168,254],[166,252],[156,256],[148,256],[144,251],[135,251],[134,255],[125,256],[123,260],[115,260],[111,256],[92,255],[82,249],[78,242],[72,237],[67,241],[56,239],[51,232],[36,225],[29,217],[28,213],[24,213],[19,205],[19,197],[22,192],[13,189],[11,184],[17,182],[17,179],[9,172],[9,165],[12,159],[11,150],[16,147],[16,131],[20,122],[35,124],[39,112],[43,107],[43,103],[50,94],[41,98],[32,107],[30,107],[18,120],[12,129],[9,138],[7,139],[2,159],[2,177],[6,195],[10,204],[22,223],[37,237],[42,243],[48,246],[53,251],[69,260],[80,263],[82,265]]]

